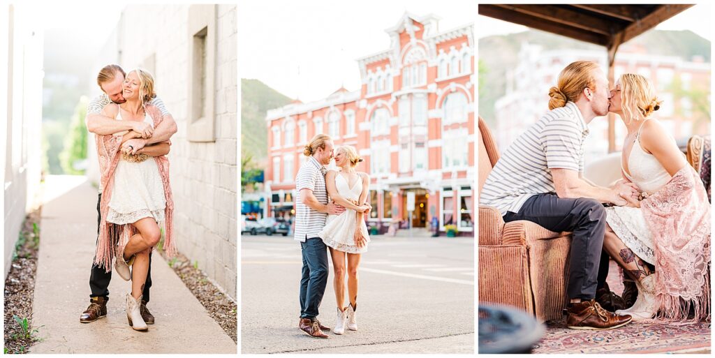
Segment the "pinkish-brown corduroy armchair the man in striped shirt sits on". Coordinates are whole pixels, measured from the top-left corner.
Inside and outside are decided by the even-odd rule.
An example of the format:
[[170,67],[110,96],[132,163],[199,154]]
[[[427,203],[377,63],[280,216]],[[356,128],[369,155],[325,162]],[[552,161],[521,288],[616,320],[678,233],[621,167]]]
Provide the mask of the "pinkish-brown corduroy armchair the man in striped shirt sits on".
[[[479,193],[499,153],[479,117]],[[540,321],[558,319],[566,306],[571,233],[527,221],[504,223],[499,211],[479,205],[479,302],[509,304]]]

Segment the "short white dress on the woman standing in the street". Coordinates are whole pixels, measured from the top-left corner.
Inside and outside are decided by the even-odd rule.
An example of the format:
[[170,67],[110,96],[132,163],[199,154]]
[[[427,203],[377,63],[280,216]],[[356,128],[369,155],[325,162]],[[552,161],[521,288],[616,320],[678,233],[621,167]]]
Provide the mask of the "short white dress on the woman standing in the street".
[[[352,187],[350,187],[347,179],[341,174],[337,174],[335,176],[335,188],[341,197],[349,200],[358,200],[360,194],[363,193],[363,179],[358,179],[355,184],[352,184]],[[356,214],[355,210],[345,209],[345,212],[340,215],[328,215],[325,227],[317,236],[320,237],[327,246],[338,251],[347,252],[348,254],[362,254],[368,251],[368,242],[370,242],[368,226],[363,220],[360,222],[360,227],[358,227],[358,222],[355,219]],[[363,247],[355,246],[353,237],[356,229],[363,231],[363,236],[365,237],[365,246]]]

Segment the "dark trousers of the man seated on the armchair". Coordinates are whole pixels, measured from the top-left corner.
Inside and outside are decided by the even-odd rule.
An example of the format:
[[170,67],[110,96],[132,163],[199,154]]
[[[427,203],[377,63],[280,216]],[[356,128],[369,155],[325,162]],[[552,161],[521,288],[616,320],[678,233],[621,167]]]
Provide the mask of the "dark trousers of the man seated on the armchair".
[[[569,299],[593,299],[603,262],[603,235],[606,234],[606,209],[595,199],[563,199],[556,194],[538,194],[524,202],[518,213],[507,212],[504,222],[528,220],[553,232],[573,232],[569,262]],[[606,270],[608,255],[605,255]],[[602,286],[601,284],[600,286]]]

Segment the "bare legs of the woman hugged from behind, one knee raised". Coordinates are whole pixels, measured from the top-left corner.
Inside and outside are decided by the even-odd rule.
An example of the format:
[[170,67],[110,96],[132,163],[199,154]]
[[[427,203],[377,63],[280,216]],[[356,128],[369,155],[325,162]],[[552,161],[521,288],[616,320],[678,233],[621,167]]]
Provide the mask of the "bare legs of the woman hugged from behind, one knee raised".
[[[147,274],[149,274],[149,252],[159,242],[160,231],[159,225],[151,217],[139,219],[134,223],[134,227],[139,230],[139,234],[132,237],[134,247],[147,245],[144,249],[132,253],[136,255],[132,265],[132,297],[139,299],[144,293],[144,284],[147,283]],[[129,244],[132,244],[132,239],[129,240]],[[127,247],[129,247],[129,244],[127,244]],[[127,247],[124,248],[125,259],[132,256],[127,252]]]

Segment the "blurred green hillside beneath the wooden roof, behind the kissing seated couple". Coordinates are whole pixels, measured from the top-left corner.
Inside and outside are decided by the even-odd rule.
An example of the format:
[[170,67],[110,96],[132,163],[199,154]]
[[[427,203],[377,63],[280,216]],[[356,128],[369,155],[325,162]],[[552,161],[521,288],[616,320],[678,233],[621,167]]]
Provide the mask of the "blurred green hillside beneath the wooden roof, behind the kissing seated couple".
[[[479,82],[483,84],[479,89],[479,114],[490,123],[494,119],[494,102],[506,91],[506,71],[516,67],[518,52],[524,42],[543,46],[545,51],[589,49],[606,52],[603,46],[538,30],[479,39]],[[701,56],[704,61],[710,62],[710,41],[692,31],[648,31],[621,45],[621,49],[630,45],[642,46],[649,54],[679,55],[687,60]]]

